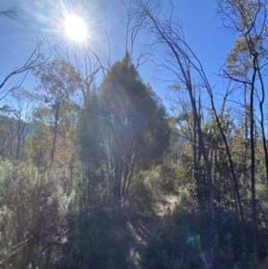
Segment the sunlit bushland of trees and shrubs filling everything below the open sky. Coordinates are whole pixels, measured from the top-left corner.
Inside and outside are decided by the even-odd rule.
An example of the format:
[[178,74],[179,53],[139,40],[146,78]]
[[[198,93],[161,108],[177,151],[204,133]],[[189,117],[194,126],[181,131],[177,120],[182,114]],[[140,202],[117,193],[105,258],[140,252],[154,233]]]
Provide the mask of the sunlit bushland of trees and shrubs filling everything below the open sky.
[[[237,38],[212,86],[163,2],[123,2],[121,61],[43,40],[0,84],[1,268],[268,268],[267,3],[216,1]],[[23,72],[35,87],[5,91]]]

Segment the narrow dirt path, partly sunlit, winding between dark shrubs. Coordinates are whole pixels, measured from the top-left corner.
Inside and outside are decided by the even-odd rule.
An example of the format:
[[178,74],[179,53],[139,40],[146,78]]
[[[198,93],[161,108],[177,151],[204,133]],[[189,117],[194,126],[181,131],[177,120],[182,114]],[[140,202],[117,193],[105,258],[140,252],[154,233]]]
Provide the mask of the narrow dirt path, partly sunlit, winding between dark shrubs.
[[177,196],[163,196],[156,201],[152,210],[147,214],[130,214],[128,227],[131,232],[130,263],[133,269],[144,268],[143,261],[147,256],[148,240],[155,226],[161,222],[164,214],[172,210],[178,202]]

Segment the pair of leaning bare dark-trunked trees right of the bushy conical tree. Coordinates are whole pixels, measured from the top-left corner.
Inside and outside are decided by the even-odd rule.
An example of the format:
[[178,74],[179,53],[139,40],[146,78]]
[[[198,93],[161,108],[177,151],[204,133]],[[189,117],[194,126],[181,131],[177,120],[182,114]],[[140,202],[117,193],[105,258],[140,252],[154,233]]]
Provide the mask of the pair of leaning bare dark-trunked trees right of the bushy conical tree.
[[[220,130],[222,140],[224,143],[227,162],[230,166],[231,177],[235,185],[236,196],[239,200],[239,213],[241,215],[242,234],[245,238],[244,232],[244,217],[243,208],[241,206],[241,199],[239,195],[238,180],[234,171],[233,161],[230,155],[230,147],[227,137],[224,133],[220,114],[214,101],[214,91],[207,79],[205,70],[202,63],[198,59],[197,55],[188,46],[184,38],[181,22],[173,13],[173,5],[171,2],[172,10],[169,16],[163,16],[162,14],[162,1],[143,1],[137,0],[134,8],[138,9],[140,17],[146,17],[146,29],[155,41],[152,41],[149,46],[154,50],[155,65],[156,68],[169,71],[173,76],[173,82],[180,85],[180,88],[188,93],[188,98],[193,113],[195,122],[195,128],[197,130],[198,147],[202,152],[202,156],[205,161],[206,177],[209,187],[209,204],[211,215],[214,223],[215,218],[215,205],[214,205],[214,179],[213,179],[213,167],[212,160],[208,156],[209,147],[205,145],[205,135],[202,130],[201,115],[198,111],[199,97],[196,92],[196,83],[198,81],[202,88],[205,89],[208,100],[210,102],[212,111],[214,113],[214,119],[217,123],[217,128]],[[226,101],[226,97],[230,94],[227,90],[226,95],[223,98],[223,103]],[[200,103],[200,102],[199,102]],[[224,108],[224,104],[222,105]]]

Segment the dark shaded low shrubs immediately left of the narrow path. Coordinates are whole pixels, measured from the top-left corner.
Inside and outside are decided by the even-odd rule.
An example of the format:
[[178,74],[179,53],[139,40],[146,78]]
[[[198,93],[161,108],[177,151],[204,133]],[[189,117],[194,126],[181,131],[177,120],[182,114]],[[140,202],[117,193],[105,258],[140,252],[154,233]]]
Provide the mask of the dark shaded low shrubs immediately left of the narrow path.
[[128,268],[130,235],[124,219],[97,210],[71,223],[68,243],[55,268]]

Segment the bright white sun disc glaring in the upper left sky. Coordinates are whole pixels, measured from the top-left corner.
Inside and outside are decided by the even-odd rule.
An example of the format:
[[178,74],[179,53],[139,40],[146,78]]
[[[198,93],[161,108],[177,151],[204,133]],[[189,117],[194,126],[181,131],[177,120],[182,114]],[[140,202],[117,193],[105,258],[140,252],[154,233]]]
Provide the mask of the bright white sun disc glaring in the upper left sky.
[[68,38],[82,42],[88,36],[88,29],[85,21],[76,15],[68,15],[64,21],[64,29]]

